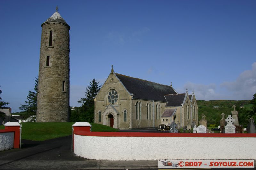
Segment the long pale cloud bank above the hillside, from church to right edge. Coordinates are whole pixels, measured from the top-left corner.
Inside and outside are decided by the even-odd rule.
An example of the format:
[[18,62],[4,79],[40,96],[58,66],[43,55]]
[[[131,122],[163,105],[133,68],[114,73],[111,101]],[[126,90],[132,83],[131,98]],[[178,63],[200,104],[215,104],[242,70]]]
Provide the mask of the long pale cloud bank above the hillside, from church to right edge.
[[186,88],[189,94],[194,90],[197,100],[252,100],[256,93],[256,62],[251,70],[242,72],[235,81],[225,81],[220,85],[187,82],[177,91],[184,93]]

